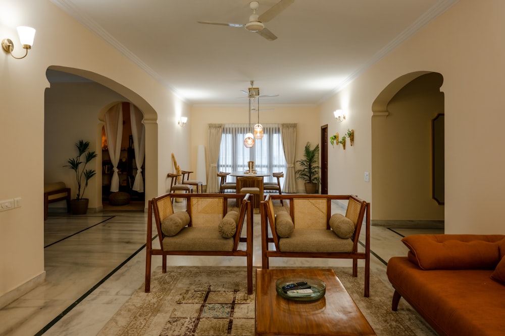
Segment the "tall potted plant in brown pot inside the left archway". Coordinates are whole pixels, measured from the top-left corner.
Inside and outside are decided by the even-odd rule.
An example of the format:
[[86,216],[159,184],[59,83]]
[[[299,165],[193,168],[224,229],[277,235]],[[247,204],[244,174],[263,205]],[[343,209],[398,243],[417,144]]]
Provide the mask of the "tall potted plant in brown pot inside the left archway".
[[88,186],[89,179],[96,174],[96,170],[86,169],[86,165],[96,158],[96,153],[89,151],[89,141],[79,140],[75,143],[75,147],[77,148],[77,156],[68,159],[68,165],[64,167],[69,167],[74,171],[77,181],[77,197],[70,200],[70,209],[74,215],[83,215],[88,211],[89,203],[89,199],[84,198],[84,191]]

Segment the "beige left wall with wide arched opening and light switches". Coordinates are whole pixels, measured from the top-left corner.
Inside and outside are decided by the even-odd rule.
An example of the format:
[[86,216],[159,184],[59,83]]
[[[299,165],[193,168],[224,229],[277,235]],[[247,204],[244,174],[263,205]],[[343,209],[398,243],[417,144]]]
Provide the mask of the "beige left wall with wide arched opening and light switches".
[[[188,107],[164,85],[48,0],[3,0],[2,11],[2,18],[8,21],[0,21],[0,36],[14,41],[17,55],[23,50],[16,27],[29,25],[37,32],[26,58],[0,54],[0,92],[5,98],[0,141],[8,144],[1,155],[2,162],[9,163],[2,165],[0,200],[22,198],[21,208],[0,212],[0,306],[44,279],[41,167],[44,91],[49,86],[45,72],[49,66],[77,69],[78,75],[111,88],[144,112],[149,166],[146,198],[165,191],[163,177],[171,166],[167,152],[178,151],[178,160],[189,163],[189,131],[176,124],[176,114],[187,113]],[[99,139],[98,129],[96,125],[94,142]],[[180,141],[181,137],[187,142]]]

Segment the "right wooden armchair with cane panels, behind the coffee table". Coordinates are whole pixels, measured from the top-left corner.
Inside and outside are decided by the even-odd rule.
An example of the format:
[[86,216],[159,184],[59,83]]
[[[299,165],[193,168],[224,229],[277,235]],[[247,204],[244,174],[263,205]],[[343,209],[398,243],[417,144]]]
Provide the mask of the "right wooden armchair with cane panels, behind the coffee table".
[[[289,216],[275,213],[273,200],[289,200]],[[331,214],[331,201],[348,200],[345,216]],[[365,260],[365,297],[370,296],[370,204],[352,195],[267,195],[262,201],[262,267],[270,257],[352,259],[352,276],[358,260]],[[281,214],[281,215],[279,215]],[[287,216],[287,217],[286,217]],[[365,219],[366,216],[366,219]],[[358,251],[365,221],[365,251]],[[272,237],[269,237],[269,229]],[[337,235],[338,234],[338,235]],[[273,243],[273,249],[269,248]]]

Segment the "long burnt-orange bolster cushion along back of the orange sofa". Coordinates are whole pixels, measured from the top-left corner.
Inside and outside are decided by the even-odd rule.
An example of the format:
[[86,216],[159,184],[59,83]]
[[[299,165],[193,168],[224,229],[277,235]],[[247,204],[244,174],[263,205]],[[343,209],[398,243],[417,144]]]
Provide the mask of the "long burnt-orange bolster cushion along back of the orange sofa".
[[411,235],[401,241],[422,270],[493,269],[503,235]]

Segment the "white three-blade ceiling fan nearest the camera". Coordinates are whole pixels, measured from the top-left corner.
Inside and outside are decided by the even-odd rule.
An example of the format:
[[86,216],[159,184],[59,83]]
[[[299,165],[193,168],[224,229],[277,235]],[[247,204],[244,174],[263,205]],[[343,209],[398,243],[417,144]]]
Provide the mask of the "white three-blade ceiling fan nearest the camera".
[[245,28],[248,31],[258,33],[269,41],[273,41],[277,39],[270,30],[265,28],[264,22],[269,22],[277,15],[279,15],[282,11],[284,11],[289,5],[294,3],[294,0],[281,0],[274,6],[272,6],[268,11],[263,13],[261,16],[256,14],[256,11],[260,7],[260,4],[257,1],[251,1],[249,3],[249,8],[252,10],[252,14],[249,16],[249,22],[244,25],[236,24],[236,23],[221,23],[221,22],[208,22],[208,21],[198,21],[198,23],[203,23],[207,25],[220,25],[220,26],[228,26],[228,27],[239,27]]

